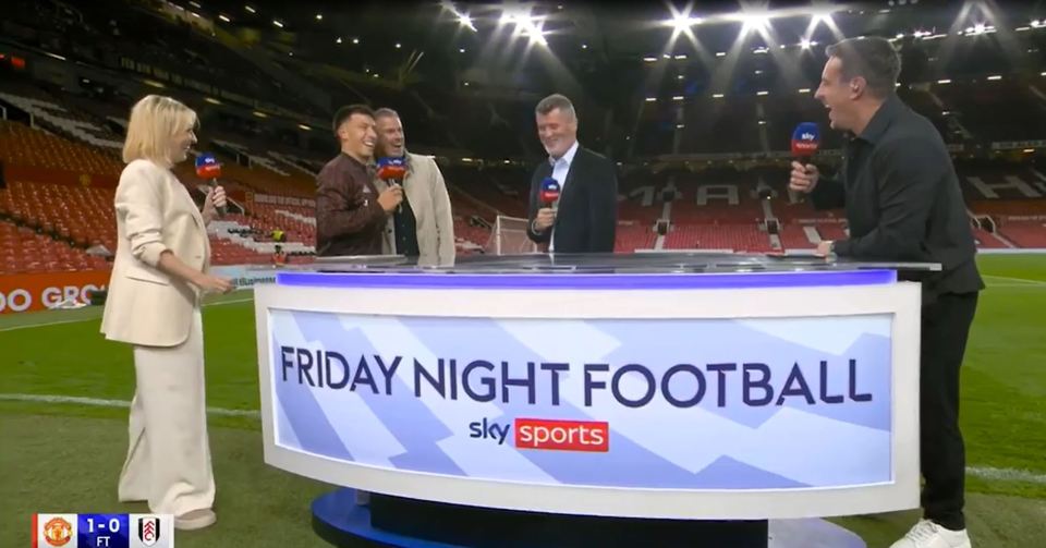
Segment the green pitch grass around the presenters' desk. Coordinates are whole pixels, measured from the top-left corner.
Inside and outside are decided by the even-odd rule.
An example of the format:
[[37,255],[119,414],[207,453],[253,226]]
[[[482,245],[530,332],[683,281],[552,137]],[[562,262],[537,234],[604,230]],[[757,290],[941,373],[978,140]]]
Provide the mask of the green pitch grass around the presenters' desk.
[[[982,293],[962,373],[968,515],[978,548],[1046,538],[1046,256],[982,256]],[[250,293],[204,312],[207,400],[257,410]],[[130,400],[131,351],[98,334],[97,308],[0,316],[0,547],[29,546],[35,512],[146,512],[115,500],[126,410],[11,401],[2,394]],[[61,324],[56,324],[61,322]],[[33,326],[33,327],[31,327]],[[15,329],[12,329],[15,328]],[[330,486],[266,466],[259,423],[210,417],[218,524],[177,534],[178,546],[321,547],[308,503]],[[887,547],[917,512],[838,520]]]

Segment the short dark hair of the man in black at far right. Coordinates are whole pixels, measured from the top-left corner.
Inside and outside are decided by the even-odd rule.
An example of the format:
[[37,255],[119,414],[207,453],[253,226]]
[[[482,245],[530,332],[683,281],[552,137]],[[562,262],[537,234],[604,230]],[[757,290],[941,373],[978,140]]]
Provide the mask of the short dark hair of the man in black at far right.
[[901,56],[886,38],[847,38],[825,48],[825,54],[839,58],[843,78],[864,78],[872,95],[878,98],[889,96],[897,88]]

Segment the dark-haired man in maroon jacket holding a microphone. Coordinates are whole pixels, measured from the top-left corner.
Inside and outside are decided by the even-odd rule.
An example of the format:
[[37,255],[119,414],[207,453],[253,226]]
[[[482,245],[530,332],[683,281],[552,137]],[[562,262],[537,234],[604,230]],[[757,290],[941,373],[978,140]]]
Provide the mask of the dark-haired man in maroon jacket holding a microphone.
[[377,133],[369,107],[338,109],[333,129],[341,154],[316,178],[316,255],[381,255],[386,221],[403,200],[403,188],[378,194],[372,182]]

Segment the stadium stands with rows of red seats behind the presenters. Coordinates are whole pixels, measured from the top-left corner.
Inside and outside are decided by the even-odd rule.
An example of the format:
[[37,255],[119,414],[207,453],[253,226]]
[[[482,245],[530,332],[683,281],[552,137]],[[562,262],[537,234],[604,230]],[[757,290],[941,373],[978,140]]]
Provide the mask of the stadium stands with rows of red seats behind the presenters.
[[[499,216],[526,215],[530,173],[544,161],[533,134],[539,93],[497,82],[487,82],[486,90],[482,84],[470,87],[458,72],[428,80],[403,73],[393,82],[379,78],[369,60],[353,58],[338,66],[336,57],[305,41],[293,56],[278,44],[245,51],[236,36],[172,19],[162,4],[122,9],[120,0],[75,7],[17,0],[10,11],[3,24],[12,44],[34,54],[60,53],[78,66],[105,68],[113,77],[88,81],[77,74],[72,78],[77,85],[32,71],[3,73],[12,76],[0,80],[5,113],[0,161],[9,174],[7,187],[0,187],[0,257],[11,258],[5,271],[105,267],[104,258],[86,252],[113,247],[111,202],[122,169],[122,124],[130,105],[155,92],[154,84],[200,113],[196,148],[215,151],[223,163],[221,183],[233,211],[212,230],[216,264],[267,263],[277,243],[292,259],[308,260],[315,173],[333,154],[326,132],[315,131],[326,130],[329,108],[308,94],[309,85],[329,90],[331,105],[362,101],[400,111],[409,146],[434,150],[442,167],[460,253],[489,249]],[[1043,34],[1017,39],[1037,51]],[[1042,75],[1011,62],[987,40],[962,42],[953,51],[910,37],[901,44],[908,72],[899,94],[953,147],[978,246],[1046,247],[1046,176],[1038,159],[1046,145],[1035,141],[1046,137]],[[579,101],[588,115],[583,144],[621,155],[615,157],[621,161],[616,249],[810,249],[820,240],[846,238],[842,211],[816,211],[784,186],[789,158],[782,153],[792,127],[803,121],[826,127],[812,89],[819,54],[791,65],[778,59],[780,66],[769,60],[775,56],[732,50],[726,61],[715,56],[711,62],[735,63],[739,75],[729,85],[700,63],[662,69],[659,58],[613,61],[618,72],[579,71],[605,103]],[[270,61],[301,82],[275,77]],[[678,76],[640,95],[599,85],[615,74],[638,81],[648,70]],[[143,87],[143,77],[155,82]],[[224,94],[229,90],[235,93]],[[256,99],[243,102],[244,96]],[[823,131],[827,153],[817,161],[827,172],[838,162],[831,151],[842,141],[838,132]],[[202,200],[206,188],[192,166],[175,171]],[[664,234],[658,220],[666,222]],[[275,242],[273,231],[282,231],[284,240]],[[42,251],[34,255],[34,248]]]

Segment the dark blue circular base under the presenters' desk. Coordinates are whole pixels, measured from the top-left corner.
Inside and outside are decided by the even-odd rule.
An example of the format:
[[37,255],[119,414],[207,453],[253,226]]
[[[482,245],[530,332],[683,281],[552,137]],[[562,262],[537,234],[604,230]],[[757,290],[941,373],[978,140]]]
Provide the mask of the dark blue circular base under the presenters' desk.
[[[406,499],[399,499],[405,501]],[[433,504],[429,502],[419,502],[415,501],[418,504]],[[410,504],[414,502],[406,502],[405,508],[410,508]],[[469,513],[472,511],[483,511],[487,512],[487,515],[490,513],[501,513],[500,511],[489,510],[489,509],[469,509],[465,507],[453,507],[453,506],[440,506],[441,511],[454,512],[453,509],[461,509],[462,513]],[[385,508],[389,508],[385,504]],[[360,546],[381,546],[381,547],[402,547],[402,548],[477,548],[477,547],[528,547],[528,546],[540,546],[542,548],[567,548],[567,547],[579,547],[579,546],[589,546],[587,543],[580,540],[577,536],[577,529],[582,529],[585,526],[592,526],[592,520],[597,520],[592,516],[576,516],[579,522],[579,527],[564,527],[563,520],[571,520],[571,516],[555,515],[549,514],[526,514],[520,512],[509,512],[504,511],[506,514],[514,515],[530,515],[532,516],[532,524],[526,528],[528,535],[535,534],[535,529],[542,528],[542,519],[544,516],[549,516],[556,520],[555,524],[551,522],[547,523],[546,532],[537,531],[542,539],[538,541],[535,539],[534,543],[527,544],[526,540],[521,540],[512,531],[492,531],[487,527],[487,531],[483,533],[473,532],[469,538],[472,540],[467,544],[448,544],[445,541],[436,540],[434,537],[443,537],[443,538],[463,538],[458,532],[451,531],[455,527],[469,527],[471,523],[470,519],[463,521],[458,521],[457,523],[453,520],[443,520],[443,531],[431,531],[428,529],[424,536],[412,535],[405,531],[390,531],[388,527],[378,527],[372,523],[372,509],[368,506],[358,504],[356,501],[356,491],[354,489],[337,489],[329,494],[317,497],[312,504],[313,510],[313,531],[320,536],[324,540],[330,543],[333,546],[339,547],[360,547]],[[446,515],[446,514],[445,514]],[[400,516],[400,517],[406,517]],[[396,516],[386,516],[386,520],[391,521],[406,521],[406,520],[397,520]],[[615,531],[628,531],[629,524],[635,524],[635,531],[649,531],[650,520],[618,520],[618,519],[607,519],[608,524],[612,523]],[[378,520],[374,520],[378,521]],[[437,520],[440,521],[440,520]],[[485,517],[485,524],[489,525],[489,519]],[[582,525],[583,522],[587,522]],[[386,522],[388,523],[388,522]],[[704,525],[708,524],[713,528],[714,534],[722,534],[723,526],[727,529],[731,528],[733,523],[741,522],[681,522],[676,521],[671,522],[672,524],[680,525]],[[858,537],[855,534],[838,526],[832,523],[829,523],[825,520],[777,520],[770,521],[768,526],[766,522],[745,522],[743,525],[749,526],[747,538],[752,538],[751,532],[752,526],[764,527],[762,529],[763,534],[759,535],[759,538],[753,543],[744,544],[744,547],[767,547],[767,548],[866,548],[865,543]],[[624,527],[622,529],[622,527]],[[646,527],[642,529],[641,527]],[[409,526],[406,527],[409,528]],[[621,538],[620,546],[677,546],[682,541],[681,537],[679,540],[666,539],[661,537],[660,533],[665,528],[673,527],[655,527],[658,531],[658,538],[648,538],[643,537],[641,540],[629,534],[618,534],[617,537]],[[521,529],[516,529],[521,531]],[[700,529],[691,529],[700,531]],[[684,529],[679,529],[682,535],[686,535]],[[569,536],[573,533],[573,536]],[[727,532],[729,533],[729,531]],[[642,534],[642,533],[641,533]],[[671,534],[671,533],[666,533]],[[743,534],[743,532],[742,532]],[[478,535],[478,536],[477,536]],[[554,539],[554,537],[560,536],[561,541]],[[427,537],[427,538],[426,538]],[[632,538],[627,538],[632,537]],[[765,539],[765,540],[764,540]],[[653,544],[650,544],[653,541]],[[638,543],[638,544],[637,544]],[[600,539],[598,546],[608,547],[607,539]],[[685,538],[686,546],[711,546],[702,543],[701,538],[690,536]],[[617,545],[613,545],[617,546]],[[721,545],[720,545],[721,546]],[[731,544],[737,548],[744,548],[741,545]]]

